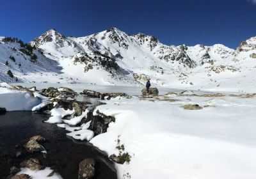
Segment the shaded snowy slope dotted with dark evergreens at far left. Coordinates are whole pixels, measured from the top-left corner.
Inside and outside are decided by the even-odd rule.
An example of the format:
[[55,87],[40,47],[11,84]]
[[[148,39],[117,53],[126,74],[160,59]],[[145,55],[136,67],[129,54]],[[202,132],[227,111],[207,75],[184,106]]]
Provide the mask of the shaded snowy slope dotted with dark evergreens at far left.
[[[4,37],[0,37],[0,81],[38,81],[47,74],[60,74],[56,61],[46,58],[38,50],[29,51],[29,47],[23,46],[23,42],[4,42]],[[36,59],[32,56],[36,56]],[[8,70],[13,77],[7,74]],[[36,78],[37,75],[39,78]]]

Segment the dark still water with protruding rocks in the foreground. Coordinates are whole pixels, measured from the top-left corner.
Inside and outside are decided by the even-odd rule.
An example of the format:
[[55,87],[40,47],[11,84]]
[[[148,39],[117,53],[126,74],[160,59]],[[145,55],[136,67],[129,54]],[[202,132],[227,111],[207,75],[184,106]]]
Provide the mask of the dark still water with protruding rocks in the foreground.
[[13,111],[0,115],[0,178],[6,178],[10,167],[28,158],[26,155],[17,158],[15,152],[35,135],[47,139],[43,143],[47,154],[33,153],[32,156],[37,157],[44,166],[56,169],[63,178],[77,179],[79,163],[86,158],[95,159],[93,178],[116,178],[114,164],[106,153],[86,141],[68,138],[63,128],[43,122],[48,118],[47,114],[31,111]]

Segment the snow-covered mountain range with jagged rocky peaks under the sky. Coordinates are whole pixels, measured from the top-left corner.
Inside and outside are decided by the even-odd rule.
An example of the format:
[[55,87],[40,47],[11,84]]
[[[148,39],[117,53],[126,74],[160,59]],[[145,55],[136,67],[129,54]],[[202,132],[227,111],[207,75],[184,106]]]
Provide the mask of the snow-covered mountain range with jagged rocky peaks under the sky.
[[[1,38],[1,81],[10,80],[5,75],[10,69],[18,81],[26,82],[141,85],[150,78],[152,84],[170,88],[255,91],[256,87],[256,37],[230,49],[220,44],[168,46],[154,36],[128,35],[116,28],[84,37],[65,37],[51,29],[30,45],[38,59],[28,64],[41,68],[20,72],[13,64],[4,65],[13,63],[12,53],[22,54],[19,43]],[[22,55],[18,59],[26,61]]]

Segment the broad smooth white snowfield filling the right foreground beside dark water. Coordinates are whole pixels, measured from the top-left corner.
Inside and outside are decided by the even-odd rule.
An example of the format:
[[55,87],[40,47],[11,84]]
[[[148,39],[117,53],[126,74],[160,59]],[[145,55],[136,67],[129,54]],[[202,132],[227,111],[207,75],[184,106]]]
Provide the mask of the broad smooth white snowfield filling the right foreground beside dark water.
[[[116,164],[118,178],[129,173],[131,178],[149,179],[253,179],[255,102],[255,97],[229,96],[112,99],[95,111],[115,116],[115,123],[90,143],[108,155],[118,155],[120,139],[131,162]],[[189,111],[181,107],[184,104],[209,107]]]

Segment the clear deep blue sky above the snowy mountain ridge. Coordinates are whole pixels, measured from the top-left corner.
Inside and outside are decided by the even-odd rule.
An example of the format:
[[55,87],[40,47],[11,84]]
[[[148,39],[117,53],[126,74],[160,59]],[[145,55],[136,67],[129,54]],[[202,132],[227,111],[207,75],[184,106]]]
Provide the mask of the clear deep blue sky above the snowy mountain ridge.
[[166,45],[236,48],[256,36],[256,0],[23,0],[1,1],[0,36],[25,42],[54,28],[86,36],[110,27],[156,36]]

